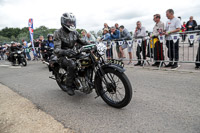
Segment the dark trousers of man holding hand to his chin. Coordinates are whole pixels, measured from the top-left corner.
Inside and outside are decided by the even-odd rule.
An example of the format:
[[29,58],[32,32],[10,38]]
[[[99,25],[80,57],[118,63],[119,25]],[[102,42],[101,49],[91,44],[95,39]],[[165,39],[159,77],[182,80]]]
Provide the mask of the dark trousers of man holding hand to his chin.
[[138,59],[141,59],[141,52],[142,52],[142,56],[143,59],[146,59],[146,47],[147,47],[147,41],[142,41],[142,45],[141,46],[137,46],[137,51],[136,51],[136,55],[138,57]]

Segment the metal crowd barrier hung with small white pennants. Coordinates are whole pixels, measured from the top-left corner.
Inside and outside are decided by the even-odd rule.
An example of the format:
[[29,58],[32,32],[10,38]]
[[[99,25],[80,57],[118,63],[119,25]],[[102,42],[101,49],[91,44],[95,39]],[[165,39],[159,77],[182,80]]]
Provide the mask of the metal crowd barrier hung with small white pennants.
[[[143,63],[143,67],[145,65],[150,65],[150,63],[159,62],[160,67],[162,64],[166,62],[177,62],[177,63],[200,63],[200,55],[197,54],[200,47],[200,30],[196,31],[188,31],[188,32],[179,32],[170,34],[172,41],[167,41],[165,36],[158,36],[156,38],[139,37],[133,38],[133,40],[125,40],[125,41],[110,41],[103,42],[108,46],[107,50],[107,58],[110,55],[113,55],[113,59],[120,59],[118,57],[117,47],[122,46],[124,44],[127,45],[127,50],[124,49],[125,57],[123,61],[141,61]],[[156,44],[155,39],[159,42]],[[190,44],[193,44],[190,47]],[[145,45],[145,46],[144,46]],[[156,45],[161,47],[161,51],[163,54],[163,59],[156,59]],[[140,47],[140,51],[138,52],[138,47]],[[132,59],[129,59],[128,49],[131,49]],[[130,51],[129,51],[130,52]],[[141,58],[138,58],[140,54]],[[107,59],[111,59],[110,57]],[[120,59],[121,60],[121,59]]]

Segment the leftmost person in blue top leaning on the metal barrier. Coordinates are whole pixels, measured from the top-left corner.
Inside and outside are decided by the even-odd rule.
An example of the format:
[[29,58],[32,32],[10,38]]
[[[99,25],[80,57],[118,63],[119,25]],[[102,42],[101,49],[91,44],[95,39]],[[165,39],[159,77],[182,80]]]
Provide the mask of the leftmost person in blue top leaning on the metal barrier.
[[101,38],[101,40],[107,41],[106,57],[108,60],[113,58],[112,45],[110,44],[110,39],[111,37],[108,28],[104,28],[103,37]]

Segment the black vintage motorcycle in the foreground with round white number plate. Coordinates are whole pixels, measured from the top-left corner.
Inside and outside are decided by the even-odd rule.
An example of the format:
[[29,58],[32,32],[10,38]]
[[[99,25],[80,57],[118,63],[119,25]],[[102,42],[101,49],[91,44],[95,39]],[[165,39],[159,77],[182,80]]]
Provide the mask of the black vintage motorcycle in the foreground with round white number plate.
[[[74,85],[76,90],[86,94],[95,89],[97,97],[101,96],[108,105],[123,108],[131,101],[132,86],[120,61],[104,60],[105,51],[103,43],[86,45],[79,49],[76,57],[70,58],[77,65]],[[53,74],[50,78],[64,91],[67,70],[61,67],[56,56],[49,63],[49,71]]]

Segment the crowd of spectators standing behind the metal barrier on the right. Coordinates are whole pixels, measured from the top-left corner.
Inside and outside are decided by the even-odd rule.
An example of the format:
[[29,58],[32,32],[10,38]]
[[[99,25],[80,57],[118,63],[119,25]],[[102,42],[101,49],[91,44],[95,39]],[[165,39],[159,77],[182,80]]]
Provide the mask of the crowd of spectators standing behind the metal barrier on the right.
[[[119,26],[119,24],[115,24],[112,27],[109,27],[107,23],[104,23],[103,28],[103,36],[100,38],[100,41],[105,41],[107,46],[106,56],[107,59],[113,58],[113,46],[112,41],[116,43],[116,52],[119,59],[125,58],[124,49],[127,48],[129,55],[129,62],[127,65],[132,63],[132,50],[133,44],[130,44],[128,40],[137,40],[137,49],[136,56],[138,62],[135,66],[143,66],[147,57],[154,58],[154,64],[152,66],[163,66],[163,61],[165,59],[164,51],[163,51],[163,41],[166,41],[166,47],[168,49],[167,57],[169,58],[169,63],[165,65],[165,67],[171,67],[175,69],[178,67],[179,61],[179,34],[182,32],[181,37],[182,41],[185,41],[186,34],[185,31],[194,31],[197,26],[197,22],[193,20],[193,17],[190,17],[190,20],[183,25],[181,24],[181,17],[176,18],[174,16],[173,9],[168,9],[166,11],[166,17],[168,21],[164,24],[161,21],[161,15],[155,14],[153,16],[153,20],[155,22],[155,26],[153,27],[153,32],[148,36],[148,32],[146,28],[142,25],[141,21],[136,22],[136,28],[133,32],[133,35],[123,26]],[[84,31],[85,32],[85,31]],[[174,36],[177,37],[176,41],[174,41]],[[150,41],[147,41],[150,37]],[[139,41],[138,41],[139,40]],[[120,44],[120,41],[123,43]],[[193,47],[194,42],[189,41],[189,46]],[[151,51],[150,51],[151,50]],[[199,59],[199,50],[197,53],[196,61],[200,61]],[[199,68],[199,63],[196,63],[196,68]]]

